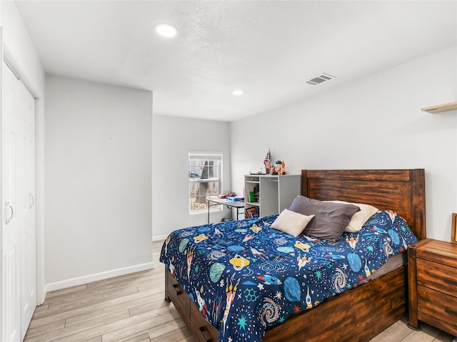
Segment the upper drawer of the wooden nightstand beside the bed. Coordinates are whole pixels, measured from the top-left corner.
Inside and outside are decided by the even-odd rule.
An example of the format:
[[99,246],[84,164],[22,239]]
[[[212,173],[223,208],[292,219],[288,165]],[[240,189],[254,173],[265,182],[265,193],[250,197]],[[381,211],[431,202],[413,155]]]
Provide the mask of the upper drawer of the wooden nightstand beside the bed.
[[417,284],[457,296],[457,269],[437,262],[417,259]]

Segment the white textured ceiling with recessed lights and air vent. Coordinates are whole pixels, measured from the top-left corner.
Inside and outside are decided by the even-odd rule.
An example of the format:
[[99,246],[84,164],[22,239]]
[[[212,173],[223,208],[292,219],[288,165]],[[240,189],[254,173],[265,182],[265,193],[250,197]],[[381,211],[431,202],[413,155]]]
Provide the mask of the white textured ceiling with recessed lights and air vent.
[[[456,46],[457,1],[16,1],[46,73],[236,120]],[[156,36],[174,24],[179,36]],[[310,86],[320,73],[336,79]],[[241,88],[243,96],[233,96]]]

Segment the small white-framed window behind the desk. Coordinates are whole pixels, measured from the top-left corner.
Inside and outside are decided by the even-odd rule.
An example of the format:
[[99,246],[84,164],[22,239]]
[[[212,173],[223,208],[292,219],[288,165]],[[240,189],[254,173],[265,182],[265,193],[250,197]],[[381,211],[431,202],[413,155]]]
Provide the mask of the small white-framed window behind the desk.
[[[222,189],[222,155],[189,152],[189,214],[208,210],[207,198],[218,198]],[[211,204],[210,210],[221,210]]]

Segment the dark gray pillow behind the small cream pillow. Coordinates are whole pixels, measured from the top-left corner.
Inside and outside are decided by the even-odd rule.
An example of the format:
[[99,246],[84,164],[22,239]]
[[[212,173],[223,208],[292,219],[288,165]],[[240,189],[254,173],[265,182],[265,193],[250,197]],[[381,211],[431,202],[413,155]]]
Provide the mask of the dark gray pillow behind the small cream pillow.
[[303,230],[303,234],[332,241],[341,238],[352,215],[360,210],[353,204],[323,202],[301,195],[293,200],[288,209],[303,215],[315,215]]

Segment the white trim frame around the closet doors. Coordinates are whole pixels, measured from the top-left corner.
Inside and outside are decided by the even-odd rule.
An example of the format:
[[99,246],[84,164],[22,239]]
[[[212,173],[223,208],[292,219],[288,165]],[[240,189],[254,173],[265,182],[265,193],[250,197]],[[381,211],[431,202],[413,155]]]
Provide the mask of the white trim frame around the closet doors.
[[[27,78],[24,70],[19,66],[14,56],[11,54],[7,46],[4,45],[1,35],[0,27],[0,48],[1,59],[4,60],[9,68],[19,77],[24,86],[29,90],[35,98],[35,177],[36,177],[36,305],[41,305],[46,296],[45,291],[45,275],[44,275],[44,100],[36,90],[36,87]],[[0,77],[2,75],[1,68],[3,63],[0,64]],[[0,99],[1,99],[1,86],[0,86]],[[1,102],[1,101],[0,101]],[[1,119],[1,107],[0,107]],[[1,138],[1,133],[0,133]],[[1,158],[0,158],[1,159]],[[1,160],[0,160],[1,172]],[[0,182],[0,194],[1,194]],[[3,205],[3,198],[2,205]],[[0,219],[1,217],[0,210]],[[1,229],[0,225],[0,229]],[[0,245],[1,249],[1,245]],[[0,285],[1,286],[1,285]],[[3,291],[3,289],[1,290]],[[1,332],[1,331],[0,331]]]

